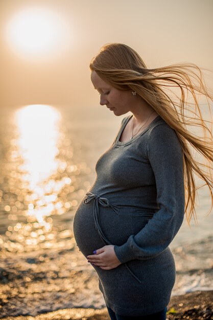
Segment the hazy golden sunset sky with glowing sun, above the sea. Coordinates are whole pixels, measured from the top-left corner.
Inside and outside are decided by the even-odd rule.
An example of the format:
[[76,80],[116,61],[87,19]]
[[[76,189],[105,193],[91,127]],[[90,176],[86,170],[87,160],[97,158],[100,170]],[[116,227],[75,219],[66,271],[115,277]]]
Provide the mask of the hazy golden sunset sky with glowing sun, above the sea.
[[0,106],[97,105],[88,65],[109,42],[213,71],[212,16],[212,0],[0,0]]

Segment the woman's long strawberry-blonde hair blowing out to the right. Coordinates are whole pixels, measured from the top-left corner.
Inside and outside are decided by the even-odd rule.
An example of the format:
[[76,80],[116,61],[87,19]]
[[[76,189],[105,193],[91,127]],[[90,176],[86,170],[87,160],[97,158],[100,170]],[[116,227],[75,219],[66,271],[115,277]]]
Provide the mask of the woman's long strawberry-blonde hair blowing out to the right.
[[[90,69],[117,89],[134,90],[176,131],[183,152],[188,223],[192,216],[196,219],[195,200],[199,187],[195,176],[208,187],[211,210],[213,137],[209,124],[212,123],[203,120],[198,98],[205,97],[210,110],[212,95],[207,92],[200,68],[181,63],[149,69],[133,49],[111,43],[92,59]],[[193,133],[194,127],[202,129],[202,134]]]

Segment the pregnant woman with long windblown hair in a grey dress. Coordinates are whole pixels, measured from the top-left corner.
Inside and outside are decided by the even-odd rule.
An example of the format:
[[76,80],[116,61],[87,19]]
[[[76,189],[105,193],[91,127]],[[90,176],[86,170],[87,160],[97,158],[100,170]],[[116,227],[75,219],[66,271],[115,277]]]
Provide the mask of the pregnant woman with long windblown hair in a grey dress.
[[[200,124],[212,139],[196,94],[210,97],[197,66],[148,69],[125,44],[103,47],[90,69],[100,104],[115,116],[131,115],[97,162],[96,180],[75,215],[75,239],[98,273],[111,319],[165,320],[175,283],[169,244],[184,212],[188,221],[195,214],[193,173],[212,186],[210,171],[192,156],[194,147],[210,163],[212,144],[186,125]],[[171,86],[180,89],[178,102],[168,95]],[[195,102],[188,114],[186,93]]]

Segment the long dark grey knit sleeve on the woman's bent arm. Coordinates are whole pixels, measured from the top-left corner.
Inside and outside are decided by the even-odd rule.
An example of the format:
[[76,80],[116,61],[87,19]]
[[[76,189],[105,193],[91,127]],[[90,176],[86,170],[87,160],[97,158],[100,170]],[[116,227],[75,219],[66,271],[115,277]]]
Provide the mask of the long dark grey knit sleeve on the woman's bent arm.
[[151,130],[147,156],[155,176],[159,210],[136,235],[131,235],[123,245],[114,246],[122,263],[160,254],[169,246],[183,221],[182,149],[175,131],[167,124],[159,124]]

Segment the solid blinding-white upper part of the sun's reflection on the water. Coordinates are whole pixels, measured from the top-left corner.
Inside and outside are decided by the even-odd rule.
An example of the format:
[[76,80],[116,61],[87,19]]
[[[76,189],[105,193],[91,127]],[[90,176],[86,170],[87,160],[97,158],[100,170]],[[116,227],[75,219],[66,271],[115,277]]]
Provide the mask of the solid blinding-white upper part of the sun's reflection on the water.
[[16,112],[17,143],[26,171],[22,179],[29,182],[30,190],[58,169],[59,120],[60,113],[48,105],[29,105]]

